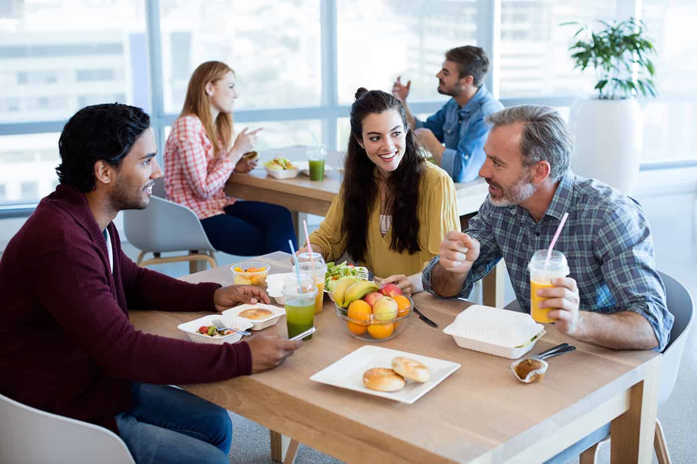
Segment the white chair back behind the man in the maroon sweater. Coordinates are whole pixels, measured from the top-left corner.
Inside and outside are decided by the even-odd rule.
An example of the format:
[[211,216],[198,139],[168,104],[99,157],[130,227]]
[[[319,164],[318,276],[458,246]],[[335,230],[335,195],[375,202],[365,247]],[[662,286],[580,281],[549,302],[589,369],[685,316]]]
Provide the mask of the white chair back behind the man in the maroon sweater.
[[0,394],[0,463],[135,464],[104,427],[31,408]]

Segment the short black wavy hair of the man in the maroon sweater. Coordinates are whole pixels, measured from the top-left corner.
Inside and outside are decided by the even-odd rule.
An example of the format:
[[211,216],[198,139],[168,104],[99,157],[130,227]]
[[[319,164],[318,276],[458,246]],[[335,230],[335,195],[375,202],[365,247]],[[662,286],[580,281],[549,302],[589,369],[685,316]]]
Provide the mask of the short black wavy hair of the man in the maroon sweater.
[[95,162],[105,160],[120,167],[148,127],[150,116],[138,107],[105,103],[77,111],[63,127],[58,141],[58,180],[80,192],[91,192],[95,189]]

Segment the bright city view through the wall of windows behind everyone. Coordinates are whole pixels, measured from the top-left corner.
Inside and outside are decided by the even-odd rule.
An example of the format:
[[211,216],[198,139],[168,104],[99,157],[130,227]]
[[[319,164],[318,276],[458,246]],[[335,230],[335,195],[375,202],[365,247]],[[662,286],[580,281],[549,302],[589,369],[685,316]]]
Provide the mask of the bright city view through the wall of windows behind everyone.
[[[2,2],[0,206],[36,203],[54,189],[59,132],[77,109],[124,102],[153,112],[146,1]],[[559,24],[613,20],[614,2],[500,0],[497,28],[477,10],[481,5],[477,0],[160,0],[162,109],[155,108],[160,114],[153,114],[159,116],[153,124],[169,132],[164,126],[181,111],[192,70],[216,59],[236,71],[236,120],[254,114],[253,123],[236,127],[264,127],[260,149],[309,144],[313,137],[342,149],[356,88],[390,91],[401,75],[412,81],[410,101],[437,108],[447,100],[436,92],[434,77],[445,50],[477,45],[482,32],[492,30],[500,30],[500,48],[493,54],[498,84],[490,90],[505,105],[592,93],[595,75],[574,70],[567,51],[574,26]],[[659,98],[640,100],[644,162],[696,160],[697,61],[684,57],[697,54],[697,39],[685,33],[697,27],[697,6],[692,0],[641,5],[659,52]],[[323,15],[328,7],[334,15]],[[328,17],[335,17],[335,24],[324,24]],[[327,70],[323,59],[335,68]]]

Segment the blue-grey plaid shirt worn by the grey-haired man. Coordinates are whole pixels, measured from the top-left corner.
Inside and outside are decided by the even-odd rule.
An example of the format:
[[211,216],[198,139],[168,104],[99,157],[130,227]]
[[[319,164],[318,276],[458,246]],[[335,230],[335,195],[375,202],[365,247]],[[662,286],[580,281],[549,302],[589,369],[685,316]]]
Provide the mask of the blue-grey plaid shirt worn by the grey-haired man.
[[[569,212],[555,249],[567,257],[576,279],[582,311],[611,314],[634,311],[644,316],[656,334],[659,350],[668,343],[673,315],[666,308],[666,292],[654,265],[648,221],[634,199],[613,188],[567,171],[542,220],[535,222],[521,206],[493,206],[484,201],[470,219],[467,233],[479,240],[480,256],[465,279],[461,297],[503,257],[516,299],[530,312],[528,263],[546,249],[565,212]],[[424,290],[431,288],[431,270],[423,272]]]

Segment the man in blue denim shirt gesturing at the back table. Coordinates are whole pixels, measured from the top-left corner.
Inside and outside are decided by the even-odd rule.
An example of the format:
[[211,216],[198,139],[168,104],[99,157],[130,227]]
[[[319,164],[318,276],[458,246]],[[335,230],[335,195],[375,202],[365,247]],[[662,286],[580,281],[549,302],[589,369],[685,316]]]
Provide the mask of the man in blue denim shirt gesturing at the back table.
[[489,59],[480,47],[467,45],[448,50],[443,69],[436,77],[438,93],[452,98],[426,122],[415,118],[406,104],[411,81],[404,85],[400,76],[392,87],[392,95],[404,105],[409,125],[419,141],[455,182],[477,178],[484,164],[483,147],[489,134],[484,117],[503,108],[483,83],[488,69]]

